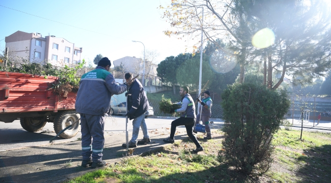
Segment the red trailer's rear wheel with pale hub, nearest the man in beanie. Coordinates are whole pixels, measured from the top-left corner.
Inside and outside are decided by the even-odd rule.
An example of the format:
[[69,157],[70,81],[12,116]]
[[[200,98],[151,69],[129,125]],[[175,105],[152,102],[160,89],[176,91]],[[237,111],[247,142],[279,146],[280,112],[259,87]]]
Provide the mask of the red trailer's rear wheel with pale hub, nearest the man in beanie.
[[[54,131],[58,134],[61,130],[65,129],[74,121],[79,118],[79,114],[75,110],[65,110],[58,113],[54,119]],[[77,135],[79,130],[79,122],[75,123],[72,127],[64,131],[59,136],[65,139],[69,139]]]

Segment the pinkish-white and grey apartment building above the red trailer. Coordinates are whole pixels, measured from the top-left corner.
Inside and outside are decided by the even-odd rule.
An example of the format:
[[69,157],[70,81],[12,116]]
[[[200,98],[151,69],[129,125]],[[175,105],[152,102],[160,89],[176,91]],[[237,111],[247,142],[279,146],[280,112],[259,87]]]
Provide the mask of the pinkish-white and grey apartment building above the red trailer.
[[42,37],[39,33],[17,31],[5,38],[6,47],[15,56],[29,59],[30,62],[47,62],[53,66],[64,66],[80,63],[82,48],[75,47],[64,38],[56,36]]

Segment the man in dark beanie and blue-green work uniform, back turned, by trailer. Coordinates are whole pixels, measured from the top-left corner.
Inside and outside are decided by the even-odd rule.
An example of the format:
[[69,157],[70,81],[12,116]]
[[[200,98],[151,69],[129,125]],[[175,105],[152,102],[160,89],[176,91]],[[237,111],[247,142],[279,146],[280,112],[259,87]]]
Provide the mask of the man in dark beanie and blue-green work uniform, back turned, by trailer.
[[112,95],[127,90],[126,84],[117,84],[109,73],[111,65],[111,60],[104,57],[95,70],[80,79],[75,108],[80,113],[83,167],[97,168],[107,164],[102,161],[104,114],[111,107]]

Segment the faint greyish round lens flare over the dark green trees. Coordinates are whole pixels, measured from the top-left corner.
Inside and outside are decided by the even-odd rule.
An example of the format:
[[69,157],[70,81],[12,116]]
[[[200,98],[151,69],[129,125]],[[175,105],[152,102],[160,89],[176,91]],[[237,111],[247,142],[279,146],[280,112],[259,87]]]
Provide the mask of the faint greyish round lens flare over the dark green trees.
[[235,55],[216,49],[210,56],[209,65],[214,72],[227,73],[236,67],[237,58]]

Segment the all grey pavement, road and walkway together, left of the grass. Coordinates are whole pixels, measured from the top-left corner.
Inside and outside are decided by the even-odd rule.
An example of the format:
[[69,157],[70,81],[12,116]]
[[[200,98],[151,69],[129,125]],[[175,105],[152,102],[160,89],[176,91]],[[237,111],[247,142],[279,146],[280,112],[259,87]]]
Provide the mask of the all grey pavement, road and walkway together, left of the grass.
[[[152,140],[146,145],[134,148],[133,155],[140,155],[155,150],[161,150],[169,144],[162,140],[169,136],[173,119],[148,118],[147,126]],[[132,125],[129,124],[131,131]],[[215,122],[214,129],[222,126]],[[81,142],[77,141],[80,134],[69,140],[60,138],[53,144],[49,139],[55,133],[29,133],[21,129],[19,121],[14,124],[0,123],[0,182],[62,182],[73,177],[93,171],[91,168],[82,168]],[[46,130],[52,130],[47,124]],[[102,160],[114,164],[126,158],[127,151],[122,147],[125,142],[125,118],[114,117],[105,125],[105,144]],[[9,136],[9,134],[11,134]],[[140,132],[139,139],[143,138]],[[201,135],[201,133],[199,133]],[[129,138],[132,133],[129,132]],[[178,127],[175,139],[187,138],[186,129]],[[199,139],[200,143],[206,140]],[[6,142],[6,143],[4,143]],[[63,143],[61,143],[63,142]],[[31,146],[31,147],[27,147]]]

